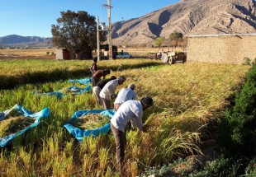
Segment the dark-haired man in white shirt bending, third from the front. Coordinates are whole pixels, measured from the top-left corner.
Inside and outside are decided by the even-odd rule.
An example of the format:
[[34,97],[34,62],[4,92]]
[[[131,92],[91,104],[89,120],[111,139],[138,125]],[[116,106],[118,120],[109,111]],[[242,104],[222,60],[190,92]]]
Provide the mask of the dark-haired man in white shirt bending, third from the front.
[[123,84],[126,81],[126,77],[120,76],[118,79],[107,82],[100,92],[103,109],[111,109],[111,100],[116,98],[116,87]]

